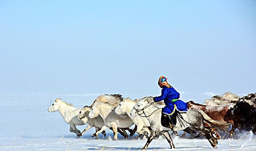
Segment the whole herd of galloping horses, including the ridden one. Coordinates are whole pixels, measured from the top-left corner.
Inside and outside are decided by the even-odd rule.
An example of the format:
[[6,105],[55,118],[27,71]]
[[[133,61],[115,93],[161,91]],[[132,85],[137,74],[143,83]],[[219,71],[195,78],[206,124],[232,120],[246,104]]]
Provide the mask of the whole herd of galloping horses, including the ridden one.
[[[118,132],[125,138],[128,138],[125,130],[130,132],[130,137],[137,132],[136,138],[148,137],[141,150],[147,149],[159,133],[164,135],[171,148],[175,148],[168,131],[173,131],[174,134],[177,134],[177,131],[184,131],[184,134],[199,132],[195,138],[203,135],[213,148],[217,148],[218,139],[221,138],[218,132],[227,132],[230,137],[235,129],[256,134],[256,93],[239,98],[236,94],[226,92],[207,99],[203,104],[189,101],[187,105],[189,110],[187,113],[178,113],[177,124],[173,129],[161,125],[161,109],[164,103],[154,103],[152,97],[132,101],[130,98],[123,98],[121,94],[104,94],[98,96],[92,105],[80,108],[56,98],[48,111],[59,111],[69,124],[69,131],[74,132],[77,137],[92,127],[96,130],[92,137],[98,138],[100,133],[105,136],[105,129],[109,128],[114,133],[114,140],[117,140]],[[87,123],[83,132],[76,128],[76,125]],[[134,124],[135,128],[130,129]],[[230,126],[231,130],[228,131]]]

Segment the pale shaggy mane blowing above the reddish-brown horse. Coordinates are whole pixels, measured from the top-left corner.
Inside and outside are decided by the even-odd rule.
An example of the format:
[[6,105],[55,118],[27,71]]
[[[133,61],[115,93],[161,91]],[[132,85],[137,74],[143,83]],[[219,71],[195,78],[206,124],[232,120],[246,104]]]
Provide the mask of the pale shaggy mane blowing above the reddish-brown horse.
[[236,94],[233,94],[231,92],[226,92],[221,95],[215,95],[211,99],[205,100],[203,105],[216,106],[216,105],[224,105],[224,104],[234,104],[238,100],[239,100],[239,97]]

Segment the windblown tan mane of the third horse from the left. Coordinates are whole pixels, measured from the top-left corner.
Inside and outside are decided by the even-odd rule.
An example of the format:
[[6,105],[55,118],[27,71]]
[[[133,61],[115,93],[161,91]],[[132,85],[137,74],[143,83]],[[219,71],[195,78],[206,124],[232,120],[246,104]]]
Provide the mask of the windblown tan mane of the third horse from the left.
[[117,107],[118,104],[123,100],[123,97],[121,94],[111,94],[111,95],[108,95],[108,94],[104,94],[104,95],[100,95],[98,96],[95,101],[93,101],[91,107],[94,106],[95,103],[105,103],[105,104],[108,104],[112,107]]

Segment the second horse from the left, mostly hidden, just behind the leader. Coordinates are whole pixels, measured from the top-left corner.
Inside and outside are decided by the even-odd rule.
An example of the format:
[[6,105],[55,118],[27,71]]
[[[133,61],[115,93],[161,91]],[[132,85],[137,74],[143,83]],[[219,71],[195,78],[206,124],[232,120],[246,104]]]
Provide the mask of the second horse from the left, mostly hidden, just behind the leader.
[[[104,126],[104,121],[103,121],[103,119],[102,119],[101,116],[97,116],[97,117],[92,118],[92,119],[88,117],[88,114],[89,114],[89,112],[90,112],[91,110],[92,110],[92,107],[85,106],[85,107],[83,107],[83,108],[80,110],[79,114],[77,115],[77,118],[78,118],[79,120],[82,120],[83,118],[87,118],[87,119],[88,119],[88,125],[87,125],[87,127],[84,129],[84,131],[78,135],[79,137],[82,136],[86,131],[88,131],[88,130],[91,129],[92,127],[95,127],[95,130],[96,130],[96,132],[97,132],[100,127]],[[124,131],[124,129],[123,129],[123,131]],[[119,128],[118,128],[118,132],[119,132],[121,135],[123,135],[124,137],[126,137],[126,136],[124,135],[124,133],[120,131]],[[106,135],[106,134],[105,134],[105,131],[103,131],[102,134],[105,136],[105,135]],[[96,139],[98,139],[98,135],[96,136]]]

